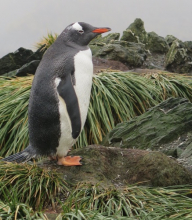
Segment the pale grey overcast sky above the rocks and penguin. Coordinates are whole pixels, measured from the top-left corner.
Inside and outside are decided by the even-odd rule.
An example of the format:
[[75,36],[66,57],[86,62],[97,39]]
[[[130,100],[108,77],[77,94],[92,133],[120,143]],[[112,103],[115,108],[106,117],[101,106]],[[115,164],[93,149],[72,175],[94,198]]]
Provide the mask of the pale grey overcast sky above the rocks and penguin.
[[84,21],[122,33],[135,18],[147,32],[192,41],[192,0],[0,0],[0,57],[34,49],[48,31]]

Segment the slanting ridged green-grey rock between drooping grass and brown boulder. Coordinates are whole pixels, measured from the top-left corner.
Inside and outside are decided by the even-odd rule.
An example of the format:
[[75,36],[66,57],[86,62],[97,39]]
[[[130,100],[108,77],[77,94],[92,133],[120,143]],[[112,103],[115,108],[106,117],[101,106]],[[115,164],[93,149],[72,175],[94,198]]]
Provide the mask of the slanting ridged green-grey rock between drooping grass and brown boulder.
[[187,99],[170,98],[141,116],[118,124],[102,144],[159,150],[175,156],[178,149],[183,151],[192,142],[191,109],[192,103]]

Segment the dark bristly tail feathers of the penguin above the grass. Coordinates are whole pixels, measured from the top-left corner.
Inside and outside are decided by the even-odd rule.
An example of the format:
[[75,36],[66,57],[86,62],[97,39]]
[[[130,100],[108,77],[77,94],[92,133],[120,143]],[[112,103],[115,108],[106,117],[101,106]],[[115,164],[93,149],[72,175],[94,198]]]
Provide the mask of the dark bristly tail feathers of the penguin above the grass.
[[29,145],[25,150],[10,155],[4,159],[2,159],[2,161],[6,161],[6,162],[17,162],[17,163],[24,163],[29,161],[31,158],[36,157],[36,154],[33,153],[31,146]]

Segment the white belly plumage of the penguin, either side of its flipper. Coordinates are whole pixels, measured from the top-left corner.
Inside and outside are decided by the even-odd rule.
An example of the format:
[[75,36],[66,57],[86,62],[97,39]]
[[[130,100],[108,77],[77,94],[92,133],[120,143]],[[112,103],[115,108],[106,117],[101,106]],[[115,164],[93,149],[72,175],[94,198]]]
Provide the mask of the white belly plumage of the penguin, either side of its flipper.
[[[84,127],[87,111],[89,107],[92,77],[93,77],[93,63],[91,50],[80,51],[74,57],[75,62],[75,92],[80,108],[81,117],[81,130]],[[60,79],[56,78],[56,87],[59,84]],[[57,93],[58,94],[58,93]],[[59,94],[58,94],[59,96]],[[57,148],[57,155],[65,156],[68,150],[76,142],[76,139],[72,137],[71,121],[67,112],[65,101],[59,96],[59,112],[60,112],[60,126],[61,137],[59,140],[59,146]]]

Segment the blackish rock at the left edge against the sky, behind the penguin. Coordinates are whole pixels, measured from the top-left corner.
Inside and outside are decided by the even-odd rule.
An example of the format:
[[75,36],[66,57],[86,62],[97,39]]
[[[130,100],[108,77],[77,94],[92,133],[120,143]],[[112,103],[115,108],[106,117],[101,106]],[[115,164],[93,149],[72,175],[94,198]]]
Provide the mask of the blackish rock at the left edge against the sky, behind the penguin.
[[21,47],[14,53],[9,53],[2,57],[0,59],[0,75],[19,69],[25,63],[27,63],[28,57],[30,57],[32,54],[32,50],[27,50]]

